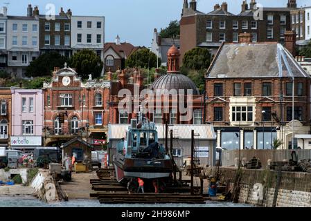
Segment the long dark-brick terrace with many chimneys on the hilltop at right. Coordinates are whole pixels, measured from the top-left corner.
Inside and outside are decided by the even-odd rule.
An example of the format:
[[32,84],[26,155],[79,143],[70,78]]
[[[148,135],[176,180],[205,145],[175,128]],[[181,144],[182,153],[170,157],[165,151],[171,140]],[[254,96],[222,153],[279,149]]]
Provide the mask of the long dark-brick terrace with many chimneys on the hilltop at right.
[[215,54],[222,42],[238,42],[241,32],[251,33],[252,42],[283,42],[285,30],[290,30],[290,10],[296,8],[294,2],[289,0],[284,8],[262,8],[263,17],[260,18],[254,17],[258,12],[255,0],[249,5],[243,1],[238,15],[229,12],[226,2],[203,13],[197,10],[195,0],[189,4],[184,0],[180,20],[181,60],[188,50],[197,46],[208,48]]

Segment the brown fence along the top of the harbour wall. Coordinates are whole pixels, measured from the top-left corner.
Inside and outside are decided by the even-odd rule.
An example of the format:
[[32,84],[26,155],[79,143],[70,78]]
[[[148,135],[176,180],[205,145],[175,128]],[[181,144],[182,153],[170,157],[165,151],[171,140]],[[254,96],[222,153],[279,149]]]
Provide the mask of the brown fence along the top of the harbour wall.
[[[283,161],[292,158],[293,150],[241,150],[240,160],[249,161],[256,157],[260,159],[262,166],[267,166],[268,160]],[[298,160],[311,159],[311,150],[295,150]],[[222,166],[234,166],[239,158],[239,151],[222,151]]]

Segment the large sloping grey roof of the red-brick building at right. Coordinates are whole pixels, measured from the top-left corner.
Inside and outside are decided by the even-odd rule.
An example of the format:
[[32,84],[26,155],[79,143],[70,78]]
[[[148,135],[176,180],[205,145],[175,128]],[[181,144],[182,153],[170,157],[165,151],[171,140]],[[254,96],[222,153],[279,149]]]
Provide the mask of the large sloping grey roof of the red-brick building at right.
[[310,77],[278,43],[223,44],[207,78]]

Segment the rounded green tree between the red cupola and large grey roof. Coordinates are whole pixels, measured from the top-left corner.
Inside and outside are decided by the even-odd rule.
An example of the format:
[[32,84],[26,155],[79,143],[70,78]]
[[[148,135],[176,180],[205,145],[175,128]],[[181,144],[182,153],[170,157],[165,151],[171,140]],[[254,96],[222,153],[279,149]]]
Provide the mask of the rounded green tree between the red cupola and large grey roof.
[[211,64],[211,53],[206,48],[193,48],[184,55],[183,65],[193,70],[207,69]]

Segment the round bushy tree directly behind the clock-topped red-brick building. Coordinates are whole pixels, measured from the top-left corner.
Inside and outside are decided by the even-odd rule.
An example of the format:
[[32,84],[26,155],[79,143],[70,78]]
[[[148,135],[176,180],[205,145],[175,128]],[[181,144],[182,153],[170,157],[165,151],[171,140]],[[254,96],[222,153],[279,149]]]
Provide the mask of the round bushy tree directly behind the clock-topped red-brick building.
[[75,55],[71,57],[69,66],[75,68],[82,79],[88,79],[89,75],[93,75],[92,77],[94,78],[100,77],[104,64],[93,50],[85,49],[75,53]]

